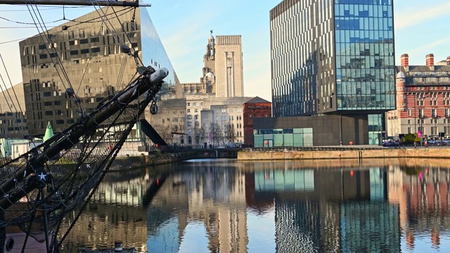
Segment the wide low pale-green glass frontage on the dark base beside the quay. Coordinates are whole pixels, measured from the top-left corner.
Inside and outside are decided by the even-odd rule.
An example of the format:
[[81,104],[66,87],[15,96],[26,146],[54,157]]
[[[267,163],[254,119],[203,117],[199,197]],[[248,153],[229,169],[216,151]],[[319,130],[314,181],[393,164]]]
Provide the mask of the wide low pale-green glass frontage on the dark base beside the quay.
[[312,128],[255,129],[255,148],[261,147],[311,147]]

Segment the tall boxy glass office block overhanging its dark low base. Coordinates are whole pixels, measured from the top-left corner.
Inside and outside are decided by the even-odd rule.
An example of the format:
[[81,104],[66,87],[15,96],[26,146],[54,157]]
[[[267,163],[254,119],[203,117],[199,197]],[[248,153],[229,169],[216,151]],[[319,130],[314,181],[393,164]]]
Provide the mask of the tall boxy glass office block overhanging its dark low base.
[[283,1],[270,29],[274,117],[371,115],[379,140],[395,109],[392,0]]

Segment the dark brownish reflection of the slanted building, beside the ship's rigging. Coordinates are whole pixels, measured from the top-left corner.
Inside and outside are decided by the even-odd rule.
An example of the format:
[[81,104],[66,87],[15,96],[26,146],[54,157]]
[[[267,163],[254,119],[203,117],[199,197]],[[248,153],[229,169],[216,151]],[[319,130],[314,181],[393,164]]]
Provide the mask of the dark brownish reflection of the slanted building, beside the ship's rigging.
[[[124,179],[122,173],[105,176],[90,204],[65,239],[65,243],[70,242],[65,245],[65,249],[70,245],[110,248],[114,246],[115,240],[122,240],[124,247],[135,247],[146,252],[147,211],[142,202],[143,190],[148,188],[150,181],[143,179],[143,175],[132,176],[131,179]],[[65,218],[61,235],[68,230],[74,218],[72,215]]]

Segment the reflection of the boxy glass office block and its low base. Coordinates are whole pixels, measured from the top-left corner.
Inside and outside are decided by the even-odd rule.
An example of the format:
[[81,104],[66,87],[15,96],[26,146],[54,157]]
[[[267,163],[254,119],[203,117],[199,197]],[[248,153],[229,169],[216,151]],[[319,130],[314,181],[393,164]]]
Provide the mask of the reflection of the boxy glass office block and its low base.
[[245,177],[252,206],[274,200],[279,252],[399,252],[383,169],[265,168]]

